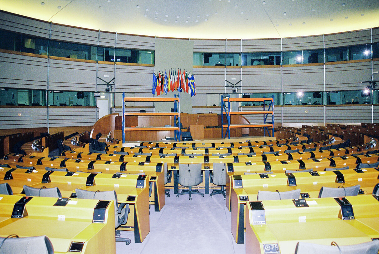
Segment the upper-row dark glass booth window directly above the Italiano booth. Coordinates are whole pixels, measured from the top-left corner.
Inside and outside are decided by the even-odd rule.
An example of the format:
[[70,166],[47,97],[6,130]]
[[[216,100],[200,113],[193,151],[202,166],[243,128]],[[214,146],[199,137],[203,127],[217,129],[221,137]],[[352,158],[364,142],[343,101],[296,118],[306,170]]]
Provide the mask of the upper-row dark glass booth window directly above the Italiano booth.
[[67,43],[63,41],[50,41],[49,55],[55,57],[96,60],[97,46]]

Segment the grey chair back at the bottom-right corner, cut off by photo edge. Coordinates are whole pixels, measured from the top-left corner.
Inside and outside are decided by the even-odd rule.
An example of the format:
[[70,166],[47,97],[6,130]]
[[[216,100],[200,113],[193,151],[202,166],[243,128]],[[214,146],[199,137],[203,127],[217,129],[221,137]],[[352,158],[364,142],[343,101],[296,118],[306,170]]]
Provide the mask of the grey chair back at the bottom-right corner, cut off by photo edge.
[[377,254],[378,251],[377,240],[345,246],[298,242],[295,248],[295,254]]

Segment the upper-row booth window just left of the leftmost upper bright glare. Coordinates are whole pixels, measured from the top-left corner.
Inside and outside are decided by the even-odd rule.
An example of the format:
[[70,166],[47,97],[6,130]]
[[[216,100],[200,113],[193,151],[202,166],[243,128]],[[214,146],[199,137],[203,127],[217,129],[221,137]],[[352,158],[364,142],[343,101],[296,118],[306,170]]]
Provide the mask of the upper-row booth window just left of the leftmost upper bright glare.
[[241,64],[246,65],[281,65],[280,52],[242,53]]

